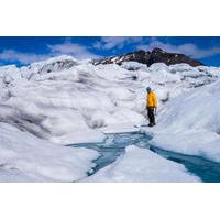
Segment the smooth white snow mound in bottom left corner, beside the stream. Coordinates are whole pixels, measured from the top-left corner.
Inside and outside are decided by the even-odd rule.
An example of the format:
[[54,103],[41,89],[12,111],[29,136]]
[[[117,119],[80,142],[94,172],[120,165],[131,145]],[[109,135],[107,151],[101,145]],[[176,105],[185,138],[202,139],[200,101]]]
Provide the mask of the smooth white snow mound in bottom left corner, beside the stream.
[[95,165],[98,153],[64,147],[0,123],[0,182],[75,182]]

